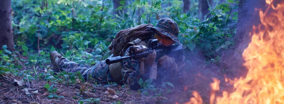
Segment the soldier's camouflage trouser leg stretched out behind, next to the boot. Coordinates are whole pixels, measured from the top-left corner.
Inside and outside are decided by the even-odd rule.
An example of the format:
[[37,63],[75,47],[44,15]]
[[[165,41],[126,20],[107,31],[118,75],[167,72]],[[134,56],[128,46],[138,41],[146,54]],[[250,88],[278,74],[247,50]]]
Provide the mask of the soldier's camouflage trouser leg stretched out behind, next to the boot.
[[107,81],[113,82],[113,78],[109,73],[108,64],[106,64],[105,61],[97,62],[95,66],[91,67],[71,62],[68,59],[63,59],[59,63],[59,68],[67,73],[79,71],[85,80],[90,80],[92,78],[99,83],[107,83]]

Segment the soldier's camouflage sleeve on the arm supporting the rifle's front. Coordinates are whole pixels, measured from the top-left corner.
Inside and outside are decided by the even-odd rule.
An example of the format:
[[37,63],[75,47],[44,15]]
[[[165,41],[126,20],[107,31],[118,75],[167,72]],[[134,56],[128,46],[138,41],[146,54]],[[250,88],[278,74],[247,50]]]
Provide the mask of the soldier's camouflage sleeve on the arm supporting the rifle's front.
[[[129,55],[129,48],[125,51],[124,56]],[[139,81],[139,61],[135,59],[125,59],[122,61],[122,81],[128,84],[130,89],[140,89]]]

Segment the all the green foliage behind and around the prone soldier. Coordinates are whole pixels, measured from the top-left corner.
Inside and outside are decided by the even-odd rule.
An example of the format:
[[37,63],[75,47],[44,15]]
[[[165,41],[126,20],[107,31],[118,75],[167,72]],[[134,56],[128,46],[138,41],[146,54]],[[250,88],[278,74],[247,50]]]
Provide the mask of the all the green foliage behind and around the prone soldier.
[[[7,50],[7,45],[1,47],[0,74],[11,73],[23,77],[25,81],[46,80],[48,83],[44,88],[49,93],[47,98],[60,99],[63,96],[56,95],[56,83],[78,84],[85,83],[85,80],[79,72],[53,72],[50,51],[59,51],[67,59],[79,64],[94,65],[109,56],[108,45],[119,30],[142,23],[156,25],[161,17],[172,18],[178,23],[179,40],[184,45],[185,55],[201,50],[209,62],[217,63],[223,52],[234,49],[238,1],[228,2],[230,4],[210,8],[209,18],[203,20],[198,18],[197,0],[192,2],[191,11],[187,13],[182,12],[180,0],[125,0],[120,4],[128,5],[117,9],[126,9],[127,12],[122,11],[119,15],[112,13],[111,0],[12,0],[16,51]],[[27,70],[22,70],[24,67],[17,60]],[[77,82],[78,79],[81,82]],[[139,79],[142,89],[138,92],[162,96],[172,92],[175,87],[170,82],[159,86],[154,86],[152,82],[152,79]],[[118,84],[95,83],[94,86]],[[128,88],[128,85],[122,88]],[[80,104],[100,103],[99,98],[73,99]]]

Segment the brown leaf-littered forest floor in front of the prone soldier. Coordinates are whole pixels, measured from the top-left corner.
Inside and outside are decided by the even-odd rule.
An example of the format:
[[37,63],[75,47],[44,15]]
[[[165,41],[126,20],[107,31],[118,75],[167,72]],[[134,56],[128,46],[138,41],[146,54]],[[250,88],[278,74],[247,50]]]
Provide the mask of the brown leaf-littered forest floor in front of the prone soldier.
[[[192,92],[197,91],[202,97],[203,103],[209,103],[212,78],[221,81],[220,91],[216,96],[222,96],[223,91],[233,91],[233,86],[225,82],[224,75],[229,78],[234,77],[234,72],[221,73],[220,67],[215,64],[204,64],[190,67],[187,71],[187,80],[181,85],[175,85],[169,92],[148,92],[143,94],[141,91],[132,91],[121,85],[97,85],[83,83],[77,79],[76,84],[54,83],[47,80],[29,80],[19,82],[24,76],[18,77],[12,74],[0,75],[0,103],[102,103],[102,104],[164,104],[164,103],[186,103],[191,97]],[[44,72],[44,71],[42,71]],[[38,72],[40,73],[40,71]],[[44,72],[46,73],[46,72]],[[45,88],[46,84],[54,85],[55,92]],[[30,88],[29,91],[26,88]],[[166,90],[166,89],[165,89]],[[36,91],[34,93],[34,91]],[[28,93],[28,94],[26,94]]]

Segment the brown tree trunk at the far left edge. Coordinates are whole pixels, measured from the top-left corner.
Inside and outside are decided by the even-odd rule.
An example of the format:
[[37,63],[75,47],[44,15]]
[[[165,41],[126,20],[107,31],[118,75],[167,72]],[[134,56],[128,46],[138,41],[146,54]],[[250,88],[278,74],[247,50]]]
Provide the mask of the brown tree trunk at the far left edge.
[[11,0],[0,2],[0,47],[7,45],[8,50],[14,51],[14,40],[11,20]]

